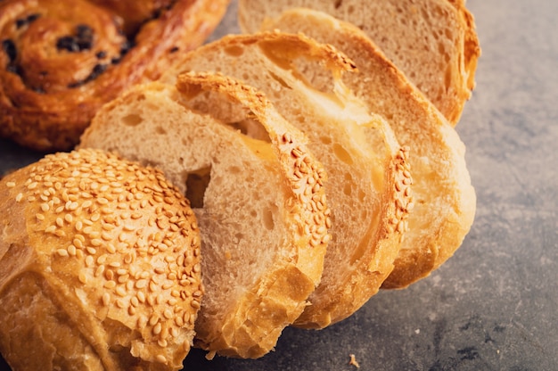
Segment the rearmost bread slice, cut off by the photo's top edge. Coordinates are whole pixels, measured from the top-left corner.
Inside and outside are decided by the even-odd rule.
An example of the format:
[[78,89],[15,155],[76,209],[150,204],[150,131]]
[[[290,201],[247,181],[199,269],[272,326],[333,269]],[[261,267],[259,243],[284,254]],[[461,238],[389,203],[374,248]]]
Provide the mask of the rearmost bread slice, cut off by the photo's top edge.
[[354,24],[380,46],[455,126],[474,87],[480,55],[464,0],[240,0],[246,32],[281,12],[307,7]]

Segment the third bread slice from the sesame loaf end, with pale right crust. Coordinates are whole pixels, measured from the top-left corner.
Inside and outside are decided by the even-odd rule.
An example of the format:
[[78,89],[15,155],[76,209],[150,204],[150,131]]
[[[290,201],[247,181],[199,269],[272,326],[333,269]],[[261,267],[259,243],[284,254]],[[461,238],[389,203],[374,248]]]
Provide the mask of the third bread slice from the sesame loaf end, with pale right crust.
[[401,288],[428,276],[461,245],[476,208],[465,147],[455,129],[353,25],[324,12],[298,9],[268,26],[303,32],[349,55],[360,75],[345,74],[344,83],[388,120],[399,143],[411,148],[414,210],[395,269],[383,287]]

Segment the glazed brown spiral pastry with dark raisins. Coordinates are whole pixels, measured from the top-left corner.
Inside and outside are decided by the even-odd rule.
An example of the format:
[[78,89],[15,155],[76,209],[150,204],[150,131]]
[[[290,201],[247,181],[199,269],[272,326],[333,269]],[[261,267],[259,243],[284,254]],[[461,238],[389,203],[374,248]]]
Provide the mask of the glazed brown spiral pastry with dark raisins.
[[201,45],[228,3],[1,2],[0,136],[39,151],[70,150],[103,103]]

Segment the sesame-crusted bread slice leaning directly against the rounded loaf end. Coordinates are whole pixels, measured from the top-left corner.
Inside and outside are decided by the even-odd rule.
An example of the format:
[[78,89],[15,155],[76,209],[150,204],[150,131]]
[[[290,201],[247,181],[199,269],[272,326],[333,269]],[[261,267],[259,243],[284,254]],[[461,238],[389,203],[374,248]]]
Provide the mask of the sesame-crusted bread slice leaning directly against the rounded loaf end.
[[163,169],[191,200],[206,295],[197,345],[258,358],[307,306],[329,239],[325,173],[267,99],[232,79],[185,76],[106,105],[82,137]]

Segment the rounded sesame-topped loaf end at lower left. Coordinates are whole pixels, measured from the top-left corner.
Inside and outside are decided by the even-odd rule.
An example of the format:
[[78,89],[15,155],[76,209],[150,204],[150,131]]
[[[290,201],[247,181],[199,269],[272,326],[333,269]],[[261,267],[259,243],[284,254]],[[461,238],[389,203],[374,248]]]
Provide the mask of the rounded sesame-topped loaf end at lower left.
[[47,155],[0,181],[0,213],[0,351],[13,370],[182,368],[200,235],[160,171]]

